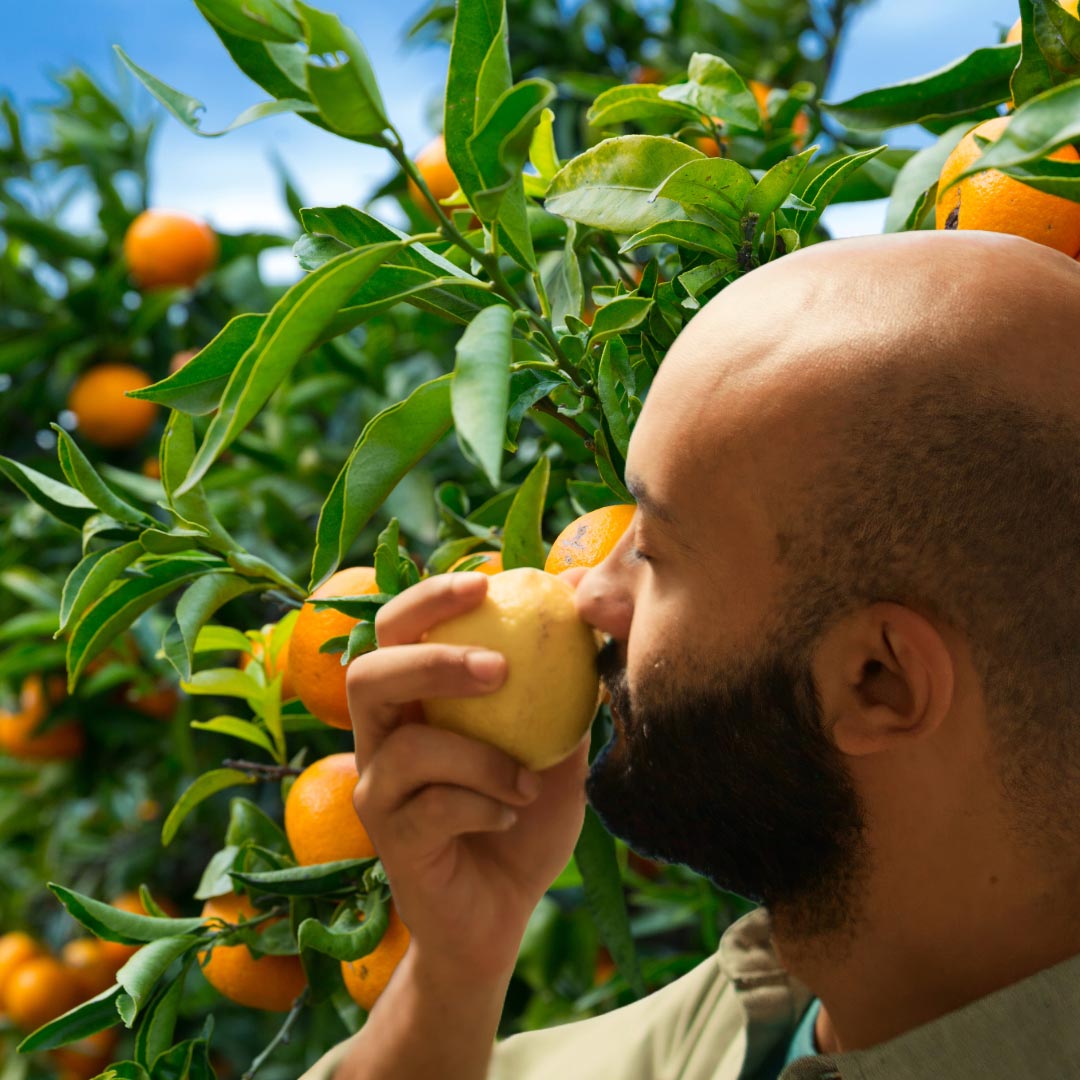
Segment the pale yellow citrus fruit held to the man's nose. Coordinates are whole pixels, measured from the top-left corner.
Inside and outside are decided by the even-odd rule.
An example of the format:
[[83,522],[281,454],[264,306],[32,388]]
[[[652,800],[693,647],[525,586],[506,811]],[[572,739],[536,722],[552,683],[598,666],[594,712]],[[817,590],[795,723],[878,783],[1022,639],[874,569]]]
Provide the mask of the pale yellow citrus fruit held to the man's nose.
[[495,649],[508,669],[494,693],[424,701],[429,724],[498,746],[530,769],[563,760],[589,730],[599,685],[596,636],[578,617],[573,590],[556,576],[503,570],[476,608],[424,639]]

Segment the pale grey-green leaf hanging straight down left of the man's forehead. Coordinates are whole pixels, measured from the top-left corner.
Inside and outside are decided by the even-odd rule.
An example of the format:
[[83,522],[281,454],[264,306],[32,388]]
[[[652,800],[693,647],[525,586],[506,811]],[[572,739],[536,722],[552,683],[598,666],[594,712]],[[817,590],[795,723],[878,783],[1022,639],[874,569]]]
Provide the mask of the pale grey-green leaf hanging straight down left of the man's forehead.
[[454,428],[467,457],[475,460],[492,487],[502,469],[502,444],[510,407],[510,308],[487,308],[458,339],[450,384]]

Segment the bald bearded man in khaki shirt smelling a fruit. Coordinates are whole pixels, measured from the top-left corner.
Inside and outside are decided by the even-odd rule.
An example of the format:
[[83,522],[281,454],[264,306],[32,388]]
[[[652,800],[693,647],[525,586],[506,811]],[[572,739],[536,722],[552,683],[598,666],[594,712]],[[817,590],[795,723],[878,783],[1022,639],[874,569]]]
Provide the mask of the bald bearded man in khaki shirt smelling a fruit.
[[[355,801],[413,944],[309,1076],[1080,1077],[1078,327],[1080,267],[989,233],[822,244],[708,303],[579,573],[616,720],[591,767],[403,723],[504,662],[417,644],[482,576],[387,605]],[[584,794],[761,906],[649,998],[494,1044]]]

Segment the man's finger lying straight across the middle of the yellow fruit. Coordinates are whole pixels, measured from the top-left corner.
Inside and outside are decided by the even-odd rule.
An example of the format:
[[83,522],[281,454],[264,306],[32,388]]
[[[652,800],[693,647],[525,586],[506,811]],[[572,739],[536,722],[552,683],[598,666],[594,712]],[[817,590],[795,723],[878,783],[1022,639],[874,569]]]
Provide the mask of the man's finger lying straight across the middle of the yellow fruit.
[[373,760],[401,725],[402,706],[427,698],[490,693],[505,677],[500,653],[468,646],[392,645],[357,657],[346,677],[357,769]]

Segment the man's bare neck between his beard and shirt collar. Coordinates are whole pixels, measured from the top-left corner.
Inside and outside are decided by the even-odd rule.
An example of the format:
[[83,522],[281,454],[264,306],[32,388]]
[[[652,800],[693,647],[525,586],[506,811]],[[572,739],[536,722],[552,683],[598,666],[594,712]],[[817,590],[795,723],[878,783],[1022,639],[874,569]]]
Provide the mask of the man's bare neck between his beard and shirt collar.
[[819,1049],[877,1045],[1080,954],[1076,885],[1036,881],[877,889],[854,933],[828,941],[785,936],[771,913],[781,962],[821,998]]

